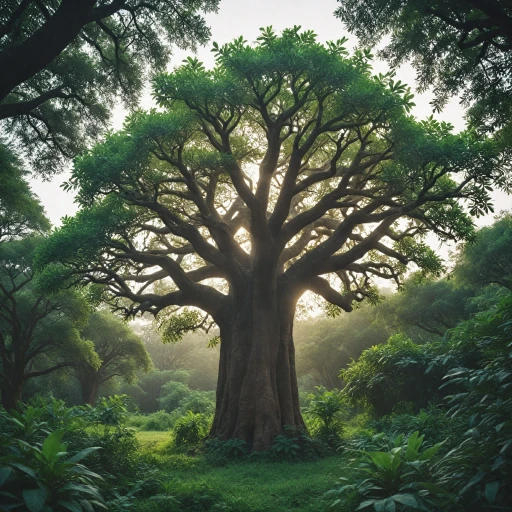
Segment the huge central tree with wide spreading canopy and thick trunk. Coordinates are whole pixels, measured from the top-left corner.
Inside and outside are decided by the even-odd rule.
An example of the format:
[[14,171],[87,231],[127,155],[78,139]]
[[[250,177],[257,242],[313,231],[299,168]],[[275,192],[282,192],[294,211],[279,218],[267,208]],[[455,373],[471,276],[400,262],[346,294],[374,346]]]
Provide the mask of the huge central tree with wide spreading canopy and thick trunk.
[[[496,144],[452,135],[406,112],[411,94],[372,77],[368,54],[318,44],[299,27],[215,46],[217,66],[189,61],[154,83],[162,112],[139,112],[83,158],[70,186],[82,205],[45,243],[47,279],[105,285],[127,315],[177,306],[170,330],[220,329],[212,435],[267,449],[303,427],[292,338],[311,290],[350,311],[375,276],[409,262],[438,272],[421,241],[473,234],[503,179]],[[478,207],[476,206],[478,204]],[[51,262],[60,262],[51,265]],[[75,279],[76,279],[75,278]]]

